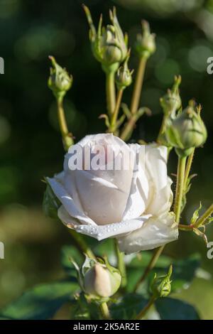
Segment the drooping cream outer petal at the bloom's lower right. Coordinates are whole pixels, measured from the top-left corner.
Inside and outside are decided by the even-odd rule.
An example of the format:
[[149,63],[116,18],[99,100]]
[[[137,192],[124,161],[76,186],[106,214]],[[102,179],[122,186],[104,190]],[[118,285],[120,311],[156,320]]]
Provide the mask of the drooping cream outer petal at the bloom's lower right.
[[118,239],[121,252],[130,254],[153,249],[178,239],[178,225],[175,216],[168,213],[164,217],[151,217],[142,227]]

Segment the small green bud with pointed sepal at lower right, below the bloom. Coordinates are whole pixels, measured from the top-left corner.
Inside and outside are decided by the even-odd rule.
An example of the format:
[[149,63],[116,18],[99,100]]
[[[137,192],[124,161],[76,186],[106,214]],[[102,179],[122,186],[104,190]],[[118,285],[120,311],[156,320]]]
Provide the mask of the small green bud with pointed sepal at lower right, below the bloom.
[[170,281],[170,276],[172,275],[172,272],[173,266],[170,265],[168,274],[165,276],[158,277],[157,274],[155,274],[153,284],[151,285],[151,290],[155,298],[167,297],[170,294],[172,283],[172,281]]

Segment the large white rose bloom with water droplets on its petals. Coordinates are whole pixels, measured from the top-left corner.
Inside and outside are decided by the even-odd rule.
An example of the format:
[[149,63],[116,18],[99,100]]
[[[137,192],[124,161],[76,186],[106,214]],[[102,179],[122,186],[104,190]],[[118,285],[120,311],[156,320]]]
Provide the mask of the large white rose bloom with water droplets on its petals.
[[[81,170],[70,169],[75,149],[85,152],[100,146],[104,154],[101,150],[97,163],[102,168],[88,170],[83,159]],[[153,249],[178,238],[175,216],[169,212],[173,193],[165,146],[128,145],[112,134],[96,134],[85,136],[71,150],[65,155],[64,171],[48,178],[62,204],[58,217],[67,227],[98,240],[116,237],[126,254]],[[89,161],[94,153],[97,152],[92,151]],[[131,166],[121,164],[120,170],[107,169],[121,156],[125,156],[124,163],[130,156]]]

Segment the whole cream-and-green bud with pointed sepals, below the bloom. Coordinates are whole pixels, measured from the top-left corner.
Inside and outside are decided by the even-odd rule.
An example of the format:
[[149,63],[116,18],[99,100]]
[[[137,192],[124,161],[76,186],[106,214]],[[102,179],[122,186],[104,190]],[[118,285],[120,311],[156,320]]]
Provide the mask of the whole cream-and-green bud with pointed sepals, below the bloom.
[[78,272],[82,291],[96,301],[102,302],[118,291],[121,285],[121,274],[118,269],[109,264],[106,258],[90,259],[86,256],[80,269],[72,260]]

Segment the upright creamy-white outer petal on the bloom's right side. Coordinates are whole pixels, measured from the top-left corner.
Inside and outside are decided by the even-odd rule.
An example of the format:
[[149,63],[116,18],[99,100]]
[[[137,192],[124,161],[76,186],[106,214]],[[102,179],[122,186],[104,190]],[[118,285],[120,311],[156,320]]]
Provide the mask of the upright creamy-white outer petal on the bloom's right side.
[[146,213],[159,216],[170,210],[173,199],[172,181],[167,175],[167,148],[147,145],[145,166],[151,193]]

